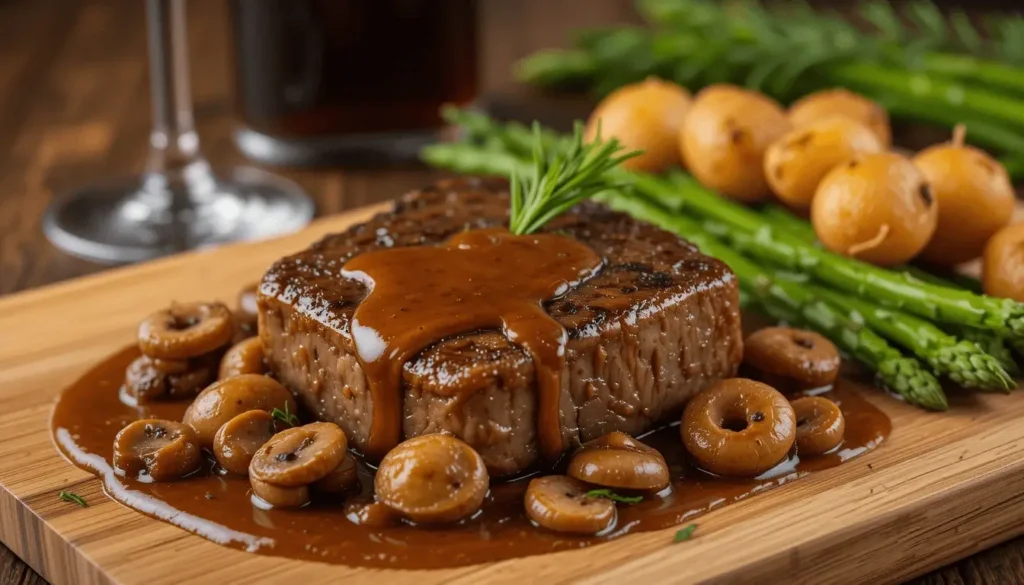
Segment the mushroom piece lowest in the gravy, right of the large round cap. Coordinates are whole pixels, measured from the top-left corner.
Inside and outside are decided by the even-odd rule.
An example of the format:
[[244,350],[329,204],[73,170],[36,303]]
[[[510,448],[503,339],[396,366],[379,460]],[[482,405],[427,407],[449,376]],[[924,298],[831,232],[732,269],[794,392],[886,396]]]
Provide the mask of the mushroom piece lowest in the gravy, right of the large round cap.
[[583,482],[565,475],[530,479],[526,487],[526,515],[548,530],[570,534],[599,534],[615,526],[615,504],[587,496]]

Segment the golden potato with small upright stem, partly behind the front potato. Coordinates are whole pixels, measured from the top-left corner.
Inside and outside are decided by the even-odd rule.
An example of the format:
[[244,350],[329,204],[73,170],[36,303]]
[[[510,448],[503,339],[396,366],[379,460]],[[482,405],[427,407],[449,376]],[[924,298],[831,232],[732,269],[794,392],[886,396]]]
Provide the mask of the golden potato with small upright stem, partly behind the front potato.
[[922,151],[913,163],[939,204],[938,228],[921,256],[945,266],[981,256],[988,239],[1014,213],[1016,196],[1007,170],[982,151],[955,141]]

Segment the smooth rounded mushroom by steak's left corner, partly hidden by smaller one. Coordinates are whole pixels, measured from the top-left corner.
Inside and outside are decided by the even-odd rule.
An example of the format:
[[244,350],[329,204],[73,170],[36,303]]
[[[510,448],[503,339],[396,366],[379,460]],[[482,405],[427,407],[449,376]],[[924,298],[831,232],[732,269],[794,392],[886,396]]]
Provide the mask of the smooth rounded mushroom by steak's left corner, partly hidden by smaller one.
[[295,412],[295,399],[280,382],[258,374],[245,374],[214,382],[200,392],[185,411],[182,422],[193,427],[200,445],[210,449],[217,430],[251,410]]

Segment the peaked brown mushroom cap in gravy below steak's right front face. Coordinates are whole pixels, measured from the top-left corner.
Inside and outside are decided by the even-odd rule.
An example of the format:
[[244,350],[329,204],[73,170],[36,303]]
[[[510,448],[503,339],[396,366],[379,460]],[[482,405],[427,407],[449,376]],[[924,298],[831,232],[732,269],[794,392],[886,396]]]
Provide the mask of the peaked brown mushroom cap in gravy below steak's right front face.
[[607,488],[664,490],[669,464],[657,450],[625,432],[609,432],[584,444],[569,461],[568,475]]

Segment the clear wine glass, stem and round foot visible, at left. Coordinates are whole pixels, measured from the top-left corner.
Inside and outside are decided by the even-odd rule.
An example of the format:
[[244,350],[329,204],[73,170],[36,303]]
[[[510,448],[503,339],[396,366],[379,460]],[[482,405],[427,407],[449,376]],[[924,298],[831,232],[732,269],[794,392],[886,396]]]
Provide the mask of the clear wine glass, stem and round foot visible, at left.
[[313,205],[294,182],[255,168],[215,174],[193,120],[185,0],[146,0],[153,130],[140,176],[90,185],[47,210],[49,240],[75,256],[137,262],[294,232]]

